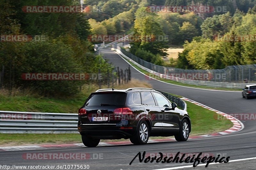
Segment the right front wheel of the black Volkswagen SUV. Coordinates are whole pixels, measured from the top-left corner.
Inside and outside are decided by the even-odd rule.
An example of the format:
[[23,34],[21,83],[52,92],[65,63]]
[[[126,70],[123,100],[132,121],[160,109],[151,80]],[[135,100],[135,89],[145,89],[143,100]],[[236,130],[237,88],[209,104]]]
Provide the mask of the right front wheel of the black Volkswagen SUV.
[[177,135],[174,135],[176,141],[186,141],[189,137],[190,126],[188,121],[184,119],[180,124],[180,131]]

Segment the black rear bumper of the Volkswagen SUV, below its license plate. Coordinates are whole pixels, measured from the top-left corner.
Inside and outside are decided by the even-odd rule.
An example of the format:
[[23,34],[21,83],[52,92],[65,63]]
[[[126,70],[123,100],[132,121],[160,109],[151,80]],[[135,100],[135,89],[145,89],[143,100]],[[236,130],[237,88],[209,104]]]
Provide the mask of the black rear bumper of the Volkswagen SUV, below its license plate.
[[[121,129],[121,128],[132,129]],[[135,126],[116,126],[116,125],[80,125],[78,132],[98,139],[128,139],[136,132]]]

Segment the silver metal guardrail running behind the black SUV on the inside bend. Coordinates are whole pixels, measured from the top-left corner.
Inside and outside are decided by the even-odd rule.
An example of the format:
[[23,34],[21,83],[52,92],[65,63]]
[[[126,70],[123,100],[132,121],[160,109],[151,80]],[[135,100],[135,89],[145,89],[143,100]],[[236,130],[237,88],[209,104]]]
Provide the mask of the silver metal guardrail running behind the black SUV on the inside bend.
[[[168,93],[167,99],[186,110],[186,103]],[[78,114],[0,111],[0,133],[78,133]]]

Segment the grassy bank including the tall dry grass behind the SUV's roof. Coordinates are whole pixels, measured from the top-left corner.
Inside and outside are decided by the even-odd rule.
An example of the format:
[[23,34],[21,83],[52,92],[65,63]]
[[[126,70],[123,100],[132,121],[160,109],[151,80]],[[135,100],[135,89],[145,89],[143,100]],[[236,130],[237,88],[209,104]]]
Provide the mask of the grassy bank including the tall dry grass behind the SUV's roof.
[[[138,86],[139,85],[139,86]],[[152,88],[147,82],[132,79],[129,83],[114,85],[117,89],[131,87]],[[107,88],[102,85],[101,88]],[[112,88],[112,87],[111,87]],[[75,96],[47,98],[35,92],[21,90],[0,90],[0,110],[20,111],[20,112],[50,112],[50,113],[77,113],[78,109],[84,104],[91,92],[95,92],[97,85],[84,85],[82,91]],[[6,102],[8,101],[8,102]]]

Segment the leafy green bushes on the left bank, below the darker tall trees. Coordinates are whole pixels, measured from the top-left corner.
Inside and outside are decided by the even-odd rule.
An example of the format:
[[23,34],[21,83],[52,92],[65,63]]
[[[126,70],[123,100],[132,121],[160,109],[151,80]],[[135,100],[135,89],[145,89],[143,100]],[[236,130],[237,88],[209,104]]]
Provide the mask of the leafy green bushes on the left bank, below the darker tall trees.
[[26,87],[46,96],[76,94],[79,92],[79,87],[89,83],[89,80],[23,80],[21,75],[23,73],[98,73],[99,68],[101,73],[106,73],[107,70],[111,72],[113,69],[106,61],[100,62],[101,56],[95,57],[91,52],[79,53],[74,46],[61,41],[61,38],[45,42],[1,43],[0,49],[0,61],[5,66],[4,86]]

